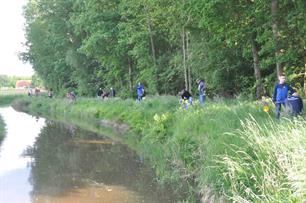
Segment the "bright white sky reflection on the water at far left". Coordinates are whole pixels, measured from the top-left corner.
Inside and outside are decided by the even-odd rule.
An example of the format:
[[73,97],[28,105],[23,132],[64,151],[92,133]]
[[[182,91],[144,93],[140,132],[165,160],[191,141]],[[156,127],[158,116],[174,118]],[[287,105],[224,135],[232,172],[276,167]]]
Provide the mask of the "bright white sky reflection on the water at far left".
[[33,145],[45,120],[36,121],[11,107],[0,108],[0,114],[6,123],[6,136],[0,146],[0,203],[30,203],[28,166],[32,159],[21,155]]

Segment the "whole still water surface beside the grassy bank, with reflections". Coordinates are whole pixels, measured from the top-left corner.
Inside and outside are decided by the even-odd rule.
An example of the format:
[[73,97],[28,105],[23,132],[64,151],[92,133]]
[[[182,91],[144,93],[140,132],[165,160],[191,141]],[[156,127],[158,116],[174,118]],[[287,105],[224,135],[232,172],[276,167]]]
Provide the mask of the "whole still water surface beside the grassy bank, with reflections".
[[125,145],[73,125],[0,108],[0,203],[175,202]]

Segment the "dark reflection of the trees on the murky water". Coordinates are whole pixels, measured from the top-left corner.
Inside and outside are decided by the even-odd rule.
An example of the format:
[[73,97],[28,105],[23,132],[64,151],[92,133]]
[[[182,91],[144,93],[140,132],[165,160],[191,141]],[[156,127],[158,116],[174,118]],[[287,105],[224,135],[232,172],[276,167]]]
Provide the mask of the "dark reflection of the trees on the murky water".
[[176,201],[171,191],[157,187],[152,170],[136,153],[74,126],[48,121],[24,155],[34,159],[30,178],[34,200],[78,192],[84,196],[90,188],[103,194],[107,187],[125,188],[120,190],[123,196],[135,193],[132,199],[140,202]]

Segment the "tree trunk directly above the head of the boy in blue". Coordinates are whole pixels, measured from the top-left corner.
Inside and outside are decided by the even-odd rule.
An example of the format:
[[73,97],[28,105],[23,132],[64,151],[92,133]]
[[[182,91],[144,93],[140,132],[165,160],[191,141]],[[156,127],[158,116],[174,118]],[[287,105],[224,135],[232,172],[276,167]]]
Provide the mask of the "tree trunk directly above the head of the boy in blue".
[[275,45],[275,58],[276,58],[276,72],[277,77],[283,74],[283,66],[279,62],[281,55],[279,45],[279,32],[278,32],[278,0],[271,0],[271,13],[272,13],[272,32]]

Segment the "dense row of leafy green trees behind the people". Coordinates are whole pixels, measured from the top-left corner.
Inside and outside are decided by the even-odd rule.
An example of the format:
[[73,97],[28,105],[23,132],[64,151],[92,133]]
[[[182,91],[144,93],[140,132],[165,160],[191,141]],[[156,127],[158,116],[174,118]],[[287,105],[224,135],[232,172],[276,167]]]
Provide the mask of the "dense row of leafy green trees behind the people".
[[[28,51],[46,87],[94,95],[195,92],[260,97],[279,73],[306,92],[305,0],[30,0]],[[303,88],[304,85],[304,88]]]

